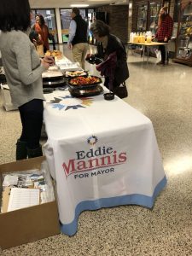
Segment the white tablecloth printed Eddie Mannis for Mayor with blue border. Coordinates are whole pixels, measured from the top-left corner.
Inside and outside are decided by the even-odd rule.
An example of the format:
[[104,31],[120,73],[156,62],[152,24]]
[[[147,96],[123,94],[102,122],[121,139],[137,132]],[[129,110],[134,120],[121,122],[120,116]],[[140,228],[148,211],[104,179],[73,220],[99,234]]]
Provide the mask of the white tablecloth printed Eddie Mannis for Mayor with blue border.
[[166,176],[151,121],[117,96],[45,96],[44,153],[56,181],[61,231],[73,236],[84,210],[153,207]]

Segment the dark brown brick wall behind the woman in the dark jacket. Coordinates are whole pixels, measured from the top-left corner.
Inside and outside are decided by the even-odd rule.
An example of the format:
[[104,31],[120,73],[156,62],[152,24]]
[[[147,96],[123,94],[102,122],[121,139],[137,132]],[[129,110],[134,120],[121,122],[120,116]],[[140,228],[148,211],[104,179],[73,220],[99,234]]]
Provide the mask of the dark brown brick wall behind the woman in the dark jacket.
[[107,12],[111,32],[124,43],[128,40],[128,5],[105,5],[96,9]]

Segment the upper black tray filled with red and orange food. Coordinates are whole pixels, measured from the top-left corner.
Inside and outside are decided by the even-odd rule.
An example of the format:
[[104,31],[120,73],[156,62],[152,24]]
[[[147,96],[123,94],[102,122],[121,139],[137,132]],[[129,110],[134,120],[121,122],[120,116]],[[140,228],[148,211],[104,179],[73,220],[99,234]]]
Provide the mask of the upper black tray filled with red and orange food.
[[[87,79],[87,80],[89,80],[89,79],[96,79],[96,83],[91,83],[91,84],[73,84],[74,80],[77,80],[77,83],[80,83],[80,80],[84,81],[85,79]],[[99,77],[96,77],[96,76],[89,76],[89,77],[86,77],[86,78],[84,78],[84,77],[77,77],[75,79],[69,79],[68,80],[69,87],[71,87],[72,89],[78,89],[78,90],[94,88],[98,84],[102,84],[102,79],[100,79]]]

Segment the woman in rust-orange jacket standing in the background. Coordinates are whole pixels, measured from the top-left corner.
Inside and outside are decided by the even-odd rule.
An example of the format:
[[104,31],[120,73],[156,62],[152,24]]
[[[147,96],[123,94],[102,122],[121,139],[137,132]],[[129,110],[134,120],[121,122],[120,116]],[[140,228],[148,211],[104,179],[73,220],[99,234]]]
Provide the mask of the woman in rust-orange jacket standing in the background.
[[44,17],[42,15],[36,15],[36,22],[32,26],[32,30],[35,30],[40,35],[39,41],[42,42],[44,47],[44,53],[49,50],[49,29],[44,22]]

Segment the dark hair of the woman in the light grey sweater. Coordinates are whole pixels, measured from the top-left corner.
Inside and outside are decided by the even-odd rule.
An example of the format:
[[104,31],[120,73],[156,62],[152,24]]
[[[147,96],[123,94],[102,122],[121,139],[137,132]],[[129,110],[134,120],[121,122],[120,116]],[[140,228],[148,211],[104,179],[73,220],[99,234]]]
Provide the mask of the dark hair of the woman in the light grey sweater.
[[26,31],[31,25],[28,0],[0,0],[0,30]]

